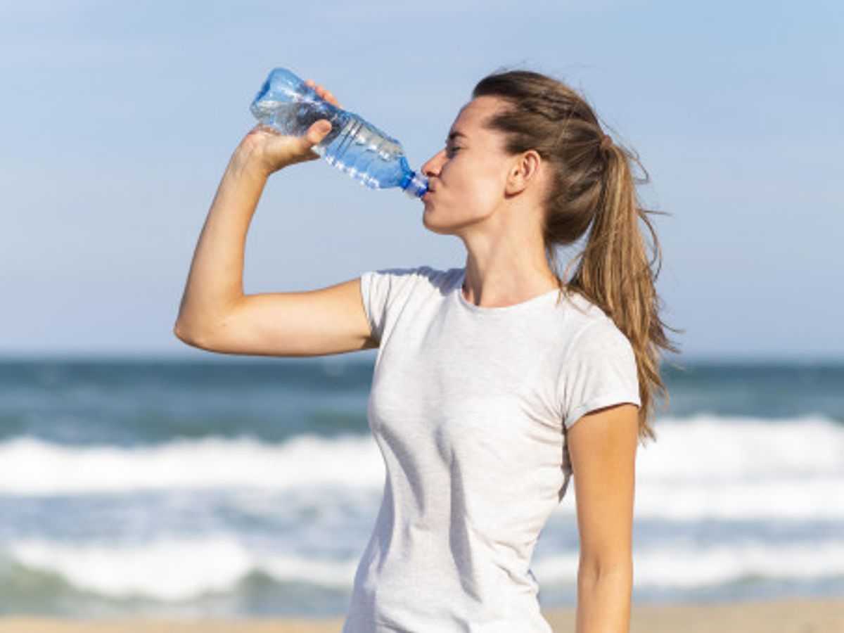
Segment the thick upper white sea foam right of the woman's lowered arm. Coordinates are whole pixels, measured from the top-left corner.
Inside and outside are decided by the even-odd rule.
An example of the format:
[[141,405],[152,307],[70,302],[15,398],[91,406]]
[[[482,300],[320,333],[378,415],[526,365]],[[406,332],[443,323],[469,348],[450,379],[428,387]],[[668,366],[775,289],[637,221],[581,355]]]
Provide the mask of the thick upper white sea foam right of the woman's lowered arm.
[[698,415],[638,456],[636,516],[844,519],[844,426]]

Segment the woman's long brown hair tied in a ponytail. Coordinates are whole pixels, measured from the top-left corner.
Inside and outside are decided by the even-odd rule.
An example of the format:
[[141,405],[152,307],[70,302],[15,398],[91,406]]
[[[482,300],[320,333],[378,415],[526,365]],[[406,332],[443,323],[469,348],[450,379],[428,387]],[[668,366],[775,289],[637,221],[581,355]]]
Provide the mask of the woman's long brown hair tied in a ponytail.
[[[487,127],[505,134],[506,149],[519,154],[536,150],[552,166],[545,199],[544,242],[560,290],[573,292],[600,307],[630,340],[639,378],[639,436],[654,439],[654,400],[668,405],[660,376],[660,349],[678,352],[659,317],[663,302],[654,282],[662,250],[636,184],[648,181],[636,154],[605,133],[582,95],[555,78],[514,70],[481,79],[473,96],[494,96],[510,106],[491,116]],[[634,178],[631,163],[644,178]],[[652,238],[652,257],[640,222]],[[576,242],[588,230],[586,245],[560,274],[556,247]],[[572,266],[576,266],[566,281]]]

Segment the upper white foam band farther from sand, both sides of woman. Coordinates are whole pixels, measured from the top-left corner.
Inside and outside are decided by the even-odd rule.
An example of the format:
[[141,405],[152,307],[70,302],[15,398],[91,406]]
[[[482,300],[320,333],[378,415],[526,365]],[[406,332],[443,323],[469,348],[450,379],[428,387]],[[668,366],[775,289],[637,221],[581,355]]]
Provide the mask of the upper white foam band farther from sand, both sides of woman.
[[[637,457],[636,516],[844,519],[844,426],[829,419],[771,421],[699,415],[663,419]],[[31,438],[0,444],[0,495],[317,486],[377,491],[380,452],[370,436],[298,436],[283,444],[210,438],[163,446],[62,446]],[[569,488],[575,495],[575,486]],[[559,512],[573,511],[565,500]]]

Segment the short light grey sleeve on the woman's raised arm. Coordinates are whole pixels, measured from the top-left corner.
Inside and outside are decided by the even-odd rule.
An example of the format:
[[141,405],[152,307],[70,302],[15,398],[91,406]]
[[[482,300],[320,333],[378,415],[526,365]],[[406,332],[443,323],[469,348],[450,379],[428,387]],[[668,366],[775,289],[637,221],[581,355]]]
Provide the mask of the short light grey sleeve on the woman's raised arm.
[[393,317],[407,303],[414,286],[425,279],[430,270],[419,268],[384,268],[360,275],[360,298],[363,300],[366,318],[370,323],[373,338],[381,338]]

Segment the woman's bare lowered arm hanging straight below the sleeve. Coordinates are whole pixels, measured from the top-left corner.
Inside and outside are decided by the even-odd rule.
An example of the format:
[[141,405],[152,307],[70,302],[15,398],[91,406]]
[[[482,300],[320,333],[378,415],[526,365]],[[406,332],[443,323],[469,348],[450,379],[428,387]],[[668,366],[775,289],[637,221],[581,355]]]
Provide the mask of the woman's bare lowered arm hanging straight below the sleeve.
[[637,411],[598,409],[568,431],[580,533],[576,633],[630,628]]

